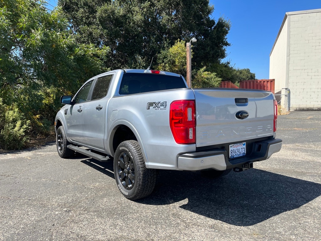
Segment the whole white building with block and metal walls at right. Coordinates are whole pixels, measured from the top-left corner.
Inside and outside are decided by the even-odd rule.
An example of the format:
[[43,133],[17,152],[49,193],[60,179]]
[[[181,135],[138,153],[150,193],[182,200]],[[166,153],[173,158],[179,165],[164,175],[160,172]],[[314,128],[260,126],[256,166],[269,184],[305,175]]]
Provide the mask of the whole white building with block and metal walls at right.
[[285,13],[270,53],[270,79],[281,105],[289,93],[290,111],[321,110],[321,9]]

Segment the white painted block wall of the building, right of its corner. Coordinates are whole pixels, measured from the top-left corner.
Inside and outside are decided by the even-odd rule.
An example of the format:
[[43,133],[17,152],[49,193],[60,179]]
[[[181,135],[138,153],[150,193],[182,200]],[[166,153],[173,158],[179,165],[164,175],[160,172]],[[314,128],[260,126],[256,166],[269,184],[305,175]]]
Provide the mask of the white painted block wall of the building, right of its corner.
[[321,109],[321,12],[290,18],[290,110]]

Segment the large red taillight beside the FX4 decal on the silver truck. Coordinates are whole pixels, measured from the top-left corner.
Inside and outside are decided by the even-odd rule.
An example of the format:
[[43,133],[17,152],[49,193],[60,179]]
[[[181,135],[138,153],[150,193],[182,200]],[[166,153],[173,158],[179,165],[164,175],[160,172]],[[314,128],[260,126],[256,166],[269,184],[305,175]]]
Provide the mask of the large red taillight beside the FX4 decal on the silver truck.
[[194,100],[178,100],[170,104],[169,124],[178,144],[195,144],[196,114]]

